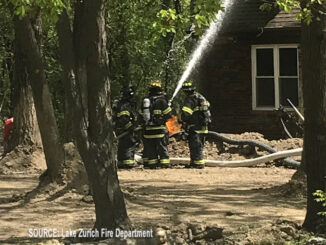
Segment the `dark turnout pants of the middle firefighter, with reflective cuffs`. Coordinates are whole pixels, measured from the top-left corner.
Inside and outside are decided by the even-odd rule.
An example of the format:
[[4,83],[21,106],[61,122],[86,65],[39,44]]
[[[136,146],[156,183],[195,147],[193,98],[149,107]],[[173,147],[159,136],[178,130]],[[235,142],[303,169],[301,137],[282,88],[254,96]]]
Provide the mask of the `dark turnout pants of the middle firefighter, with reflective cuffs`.
[[168,166],[170,164],[169,157],[169,134],[166,133],[162,138],[147,139],[148,145],[148,164],[155,165],[161,163],[161,165]]

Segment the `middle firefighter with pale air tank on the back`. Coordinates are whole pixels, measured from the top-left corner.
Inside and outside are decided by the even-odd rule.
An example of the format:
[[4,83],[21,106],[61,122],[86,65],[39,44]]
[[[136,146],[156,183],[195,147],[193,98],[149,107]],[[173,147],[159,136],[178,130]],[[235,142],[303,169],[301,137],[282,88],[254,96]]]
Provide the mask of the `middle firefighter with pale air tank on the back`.
[[144,167],[170,167],[169,134],[165,123],[171,117],[172,109],[168,105],[160,81],[151,83],[148,97],[143,100],[140,112],[144,123]]

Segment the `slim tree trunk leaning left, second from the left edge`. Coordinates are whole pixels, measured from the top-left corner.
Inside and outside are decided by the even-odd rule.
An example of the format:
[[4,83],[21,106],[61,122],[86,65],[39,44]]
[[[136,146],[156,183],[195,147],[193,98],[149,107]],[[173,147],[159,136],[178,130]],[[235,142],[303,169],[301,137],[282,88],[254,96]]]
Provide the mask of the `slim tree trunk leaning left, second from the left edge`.
[[50,180],[59,177],[64,163],[64,152],[54,117],[51,94],[46,81],[42,55],[38,46],[37,34],[27,16],[15,17],[15,31],[26,57],[28,74],[33,91],[37,121],[40,127],[44,154],[47,164],[47,176]]

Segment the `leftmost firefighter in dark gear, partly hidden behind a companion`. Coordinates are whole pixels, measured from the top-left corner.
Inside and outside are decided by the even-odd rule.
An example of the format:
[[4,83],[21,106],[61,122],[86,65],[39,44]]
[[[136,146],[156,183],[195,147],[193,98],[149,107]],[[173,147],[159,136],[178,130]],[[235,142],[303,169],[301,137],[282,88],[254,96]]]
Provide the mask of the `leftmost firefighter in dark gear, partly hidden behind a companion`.
[[134,89],[125,86],[121,91],[121,98],[117,101],[115,108],[115,128],[118,142],[118,167],[135,167],[136,135],[134,132],[136,124],[136,103],[134,100]]

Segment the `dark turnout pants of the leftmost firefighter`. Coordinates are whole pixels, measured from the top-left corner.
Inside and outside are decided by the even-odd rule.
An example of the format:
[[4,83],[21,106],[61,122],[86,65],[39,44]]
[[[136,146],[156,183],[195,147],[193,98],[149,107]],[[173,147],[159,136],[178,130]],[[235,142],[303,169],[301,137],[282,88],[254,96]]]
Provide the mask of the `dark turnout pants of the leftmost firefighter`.
[[118,163],[123,165],[134,165],[136,139],[134,132],[129,132],[119,139],[118,143]]

